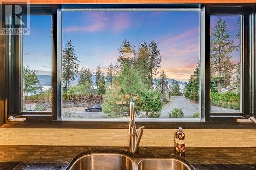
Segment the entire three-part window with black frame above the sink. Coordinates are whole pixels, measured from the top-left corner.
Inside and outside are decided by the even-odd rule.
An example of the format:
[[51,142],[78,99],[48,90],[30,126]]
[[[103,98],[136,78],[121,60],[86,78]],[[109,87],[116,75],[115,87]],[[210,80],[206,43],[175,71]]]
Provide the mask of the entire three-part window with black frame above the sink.
[[8,114],[122,121],[133,101],[150,122],[252,115],[251,7],[100,6],[31,6],[30,35],[5,36]]

